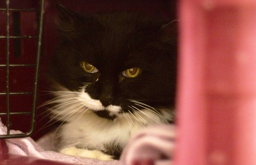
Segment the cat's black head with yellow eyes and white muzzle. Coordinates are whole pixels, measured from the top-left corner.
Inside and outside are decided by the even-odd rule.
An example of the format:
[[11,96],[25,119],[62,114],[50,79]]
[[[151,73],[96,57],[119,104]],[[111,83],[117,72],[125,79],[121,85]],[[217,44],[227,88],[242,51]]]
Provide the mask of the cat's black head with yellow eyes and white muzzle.
[[113,119],[174,104],[176,36],[140,15],[81,16],[59,7],[60,45],[51,76],[79,105]]

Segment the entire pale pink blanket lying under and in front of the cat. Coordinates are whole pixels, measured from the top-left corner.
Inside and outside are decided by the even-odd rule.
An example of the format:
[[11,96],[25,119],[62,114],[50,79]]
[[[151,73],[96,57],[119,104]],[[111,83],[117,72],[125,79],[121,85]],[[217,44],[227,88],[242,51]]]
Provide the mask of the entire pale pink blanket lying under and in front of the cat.
[[[11,130],[11,133],[21,132]],[[0,134],[6,134],[6,127],[1,122]],[[64,161],[65,163],[80,165],[171,165],[171,155],[174,149],[175,128],[172,125],[162,125],[149,127],[142,130],[127,144],[119,161],[102,161],[91,158],[64,155],[51,151],[49,137],[45,136],[45,138],[41,139],[39,142],[35,142],[30,137],[5,139],[5,141],[9,153],[11,154]]]

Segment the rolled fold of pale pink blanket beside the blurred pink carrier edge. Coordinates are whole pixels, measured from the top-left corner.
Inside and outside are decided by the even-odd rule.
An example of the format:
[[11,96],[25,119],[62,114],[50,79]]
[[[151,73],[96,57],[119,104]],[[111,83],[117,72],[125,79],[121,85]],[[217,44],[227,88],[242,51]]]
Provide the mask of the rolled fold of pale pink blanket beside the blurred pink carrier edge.
[[172,165],[175,127],[160,125],[140,131],[124,149],[121,165]]

